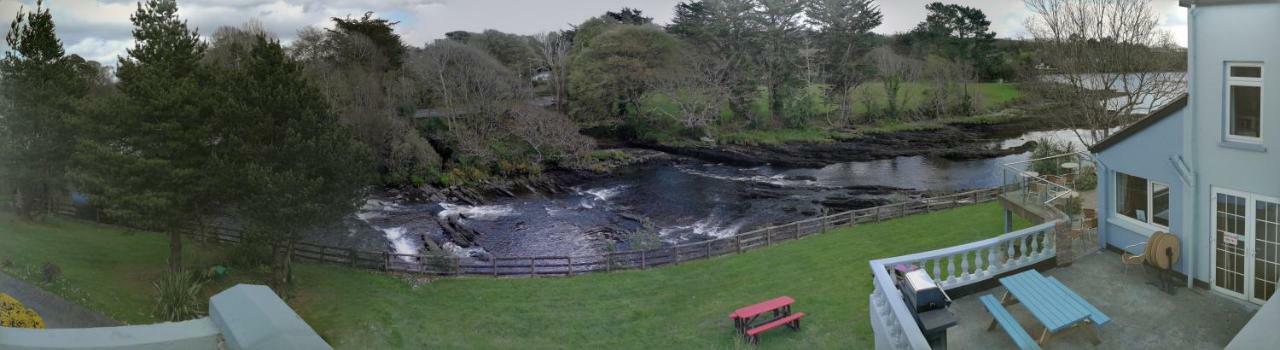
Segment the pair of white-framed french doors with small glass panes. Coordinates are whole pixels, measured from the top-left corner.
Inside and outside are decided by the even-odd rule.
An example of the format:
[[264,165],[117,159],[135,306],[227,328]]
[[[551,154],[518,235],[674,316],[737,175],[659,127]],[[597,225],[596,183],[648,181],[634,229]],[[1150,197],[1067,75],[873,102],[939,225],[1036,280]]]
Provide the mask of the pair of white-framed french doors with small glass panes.
[[1213,290],[1265,303],[1280,279],[1280,200],[1213,190]]

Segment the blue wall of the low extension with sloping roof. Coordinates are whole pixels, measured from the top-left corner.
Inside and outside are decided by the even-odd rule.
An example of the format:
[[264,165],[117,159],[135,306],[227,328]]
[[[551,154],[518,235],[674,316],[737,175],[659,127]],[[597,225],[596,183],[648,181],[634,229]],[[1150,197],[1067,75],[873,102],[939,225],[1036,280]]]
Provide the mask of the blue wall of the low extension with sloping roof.
[[[1098,229],[1103,237],[1102,242],[1124,249],[1133,244],[1146,242],[1156,231],[1166,231],[1116,214],[1116,172],[1169,185],[1169,210],[1171,213],[1167,232],[1178,235],[1183,241],[1188,240],[1188,231],[1183,229],[1183,223],[1179,221],[1183,215],[1180,203],[1183,203],[1185,186],[1170,162],[1171,158],[1181,153],[1184,114],[1187,114],[1185,108],[1094,154],[1098,163]],[[1140,247],[1130,250],[1135,254],[1142,253]],[[1187,259],[1181,259],[1175,269],[1184,272],[1185,265]]]

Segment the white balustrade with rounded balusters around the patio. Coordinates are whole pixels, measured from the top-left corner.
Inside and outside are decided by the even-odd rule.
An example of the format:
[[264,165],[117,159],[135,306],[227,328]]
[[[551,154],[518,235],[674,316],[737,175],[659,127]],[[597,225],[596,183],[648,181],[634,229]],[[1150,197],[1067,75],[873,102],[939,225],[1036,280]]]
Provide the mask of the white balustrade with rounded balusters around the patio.
[[895,267],[922,268],[943,290],[973,285],[1056,255],[1057,221],[964,245],[870,262],[874,290],[868,297],[877,349],[929,349],[902,301]]

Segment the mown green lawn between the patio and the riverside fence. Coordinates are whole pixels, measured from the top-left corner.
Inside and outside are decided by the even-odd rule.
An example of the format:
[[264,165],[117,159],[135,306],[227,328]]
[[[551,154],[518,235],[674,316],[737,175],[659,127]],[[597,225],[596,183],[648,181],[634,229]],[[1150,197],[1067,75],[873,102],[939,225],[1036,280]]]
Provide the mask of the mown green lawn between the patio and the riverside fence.
[[[728,312],[790,295],[808,314],[804,329],[769,332],[762,347],[865,349],[872,346],[868,260],[1001,229],[1000,208],[984,204],[669,268],[447,278],[417,287],[378,272],[300,264],[289,304],[339,349],[726,349],[745,347]],[[163,236],[76,221],[28,224],[0,214],[0,258],[12,256],[19,267],[44,259],[60,264],[67,273],[55,292],[132,323],[152,321],[145,313],[152,295],[146,281],[164,268]]]

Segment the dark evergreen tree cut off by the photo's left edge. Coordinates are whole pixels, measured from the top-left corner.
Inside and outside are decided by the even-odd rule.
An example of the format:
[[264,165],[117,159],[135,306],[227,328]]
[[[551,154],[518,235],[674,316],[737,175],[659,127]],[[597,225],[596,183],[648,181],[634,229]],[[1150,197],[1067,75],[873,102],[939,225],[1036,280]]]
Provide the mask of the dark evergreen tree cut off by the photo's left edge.
[[0,60],[0,178],[18,194],[24,218],[47,213],[65,190],[76,101],[87,92],[83,60],[65,56],[54,17],[36,1],[18,10]]

